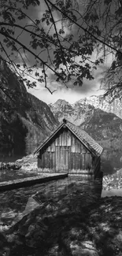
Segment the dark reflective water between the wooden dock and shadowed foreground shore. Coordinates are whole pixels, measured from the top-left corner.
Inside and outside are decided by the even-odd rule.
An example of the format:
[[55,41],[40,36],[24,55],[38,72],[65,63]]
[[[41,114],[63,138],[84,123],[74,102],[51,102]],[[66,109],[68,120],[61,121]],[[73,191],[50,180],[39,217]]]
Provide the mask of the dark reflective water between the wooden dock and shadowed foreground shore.
[[[100,198],[101,193],[102,183],[85,180],[83,176],[69,176],[63,180],[1,192],[1,221],[6,224],[15,223],[36,206],[43,206],[43,210],[50,207],[53,213],[54,210],[58,211],[61,202],[69,202],[72,206],[72,200],[75,200],[73,203],[77,206],[81,202],[85,204],[86,197],[91,197],[91,201],[92,195]],[[8,217],[8,213],[11,216]]]

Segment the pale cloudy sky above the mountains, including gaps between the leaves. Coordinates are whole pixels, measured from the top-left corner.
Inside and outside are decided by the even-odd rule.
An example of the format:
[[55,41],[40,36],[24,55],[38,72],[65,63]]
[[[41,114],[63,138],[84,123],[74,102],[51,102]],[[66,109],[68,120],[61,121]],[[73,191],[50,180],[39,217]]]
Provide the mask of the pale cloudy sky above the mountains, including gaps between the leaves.
[[[79,8],[82,9],[84,8],[85,4],[87,3],[87,0],[80,0],[80,6]],[[35,20],[41,19],[43,12],[46,9],[46,5],[43,2],[43,0],[40,0],[40,6],[33,7],[31,6],[28,9],[28,15]],[[58,20],[58,15],[57,13],[54,13],[54,19]],[[28,21],[28,25],[31,25],[31,20]],[[57,29],[61,28],[61,22],[57,22]],[[46,24],[44,24],[45,29],[49,29]],[[50,33],[53,33],[53,28],[51,28]],[[70,29],[68,27],[65,27],[65,35],[70,34]],[[21,35],[21,41],[22,42],[27,42],[29,43],[29,39],[27,36],[23,33]],[[95,57],[95,50],[94,54],[92,54],[91,59],[93,60]],[[25,58],[24,54],[22,53],[23,57]],[[29,61],[31,62],[31,56],[26,55],[27,58],[29,58]],[[41,57],[43,58],[43,61],[45,60],[45,55],[42,54]],[[27,60],[25,60],[27,61]],[[77,59],[79,61],[79,59]],[[89,97],[91,95],[102,95],[104,90],[100,89],[100,80],[102,78],[102,72],[111,64],[112,62],[112,56],[109,56],[105,60],[104,65],[100,65],[98,69],[94,72],[94,80],[83,80],[83,85],[82,86],[73,86],[72,82],[68,83],[68,88],[65,87],[65,85],[62,85],[61,83],[56,82],[56,78],[53,75],[53,73],[48,70],[48,78],[47,78],[47,87],[50,88],[51,91],[54,91],[53,94],[50,94],[50,91],[48,91],[45,88],[44,83],[37,82],[37,86],[34,88],[27,88],[28,92],[30,92],[32,95],[35,95],[35,97],[39,98],[43,102],[46,102],[47,104],[49,103],[54,103],[57,101],[57,99],[65,99],[65,101],[68,101],[69,103],[74,103],[78,101],[80,98],[84,97]],[[39,69],[39,72],[41,73],[41,69]],[[34,74],[32,74],[34,76]],[[28,76],[25,76],[25,78],[28,78]],[[29,78],[29,80],[34,81],[34,79]]]

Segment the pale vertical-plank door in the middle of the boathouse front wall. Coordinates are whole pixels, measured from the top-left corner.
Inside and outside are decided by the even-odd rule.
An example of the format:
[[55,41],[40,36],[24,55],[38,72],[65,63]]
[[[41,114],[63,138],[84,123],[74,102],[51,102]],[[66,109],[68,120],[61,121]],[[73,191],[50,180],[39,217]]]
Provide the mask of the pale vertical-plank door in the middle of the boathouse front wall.
[[68,149],[67,146],[56,146],[56,172],[68,173]]

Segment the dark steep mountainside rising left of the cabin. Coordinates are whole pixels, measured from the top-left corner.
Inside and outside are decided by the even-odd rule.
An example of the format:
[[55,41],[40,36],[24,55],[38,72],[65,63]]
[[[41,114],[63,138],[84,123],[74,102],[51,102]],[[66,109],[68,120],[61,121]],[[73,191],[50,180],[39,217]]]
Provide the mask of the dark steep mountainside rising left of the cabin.
[[0,147],[31,153],[57,126],[50,107],[29,94],[8,65],[0,59]]

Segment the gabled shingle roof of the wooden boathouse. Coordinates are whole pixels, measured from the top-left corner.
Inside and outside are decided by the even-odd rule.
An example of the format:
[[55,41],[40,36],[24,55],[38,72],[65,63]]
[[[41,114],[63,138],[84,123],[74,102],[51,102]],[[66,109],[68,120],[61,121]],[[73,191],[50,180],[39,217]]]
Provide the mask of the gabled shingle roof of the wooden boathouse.
[[75,124],[70,123],[66,119],[63,119],[61,124],[59,124],[59,126],[54,130],[54,132],[52,132],[51,135],[48,136],[43,141],[43,143],[35,150],[34,154],[38,153],[39,150],[41,150],[46,145],[46,143],[48,143],[49,140],[52,139],[54,135],[63,126],[66,126],[69,129],[69,131],[72,132],[76,136],[76,138],[79,139],[79,141],[83,143],[85,147],[87,147],[89,151],[91,151],[92,154],[97,156],[102,154],[103,148],[98,143],[96,143],[95,140],[92,139],[91,136],[87,134],[87,132],[85,132],[82,128],[77,127]]

